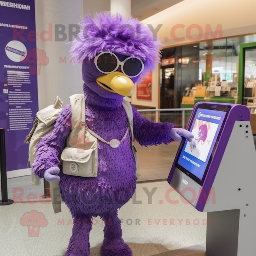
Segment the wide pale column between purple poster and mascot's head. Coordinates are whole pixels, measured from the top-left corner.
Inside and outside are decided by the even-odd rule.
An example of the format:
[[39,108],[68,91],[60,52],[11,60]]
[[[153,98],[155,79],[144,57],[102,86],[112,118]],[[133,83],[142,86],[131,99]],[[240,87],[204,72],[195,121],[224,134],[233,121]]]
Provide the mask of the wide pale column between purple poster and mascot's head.
[[[39,40],[44,41],[44,51],[49,58],[49,63],[42,67],[45,69],[45,84],[39,84],[39,86],[41,91],[44,88],[47,91],[46,105],[53,104],[56,96],[59,96],[63,101],[63,106],[65,106],[69,102],[69,96],[83,92],[83,80],[81,78],[82,65],[73,66],[72,63],[69,63],[71,58],[69,53],[71,44],[66,44],[74,40],[74,37],[69,37],[69,25],[77,24],[81,21],[81,16],[83,16],[83,1],[43,0],[42,8],[44,30],[49,31],[49,24],[50,28],[52,26],[52,33],[49,32],[49,34],[52,34],[52,41],[48,41],[47,39],[42,40],[39,37]],[[58,24],[63,29],[65,40],[58,39],[62,38],[61,35],[57,36],[57,31],[55,31],[55,25]],[[74,30],[75,28],[73,28]],[[42,31],[37,32],[40,35]],[[47,38],[48,35],[45,34],[44,37]],[[64,63],[62,63],[62,60],[64,60]]]

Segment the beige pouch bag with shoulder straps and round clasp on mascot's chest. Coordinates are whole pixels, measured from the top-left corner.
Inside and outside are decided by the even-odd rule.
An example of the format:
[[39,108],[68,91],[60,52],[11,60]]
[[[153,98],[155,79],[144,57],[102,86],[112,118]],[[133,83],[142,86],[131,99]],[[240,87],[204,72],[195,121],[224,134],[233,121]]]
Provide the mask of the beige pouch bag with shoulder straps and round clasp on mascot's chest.
[[133,115],[132,106],[123,100],[123,107],[127,113],[127,130],[121,141],[117,139],[109,142],[92,132],[85,122],[84,94],[75,94],[70,97],[72,124],[75,127],[67,138],[67,147],[61,154],[62,171],[64,174],[86,178],[96,177],[98,174],[98,139],[112,148],[117,148],[126,138],[128,131],[131,135],[131,147],[137,166],[137,150],[133,145]]

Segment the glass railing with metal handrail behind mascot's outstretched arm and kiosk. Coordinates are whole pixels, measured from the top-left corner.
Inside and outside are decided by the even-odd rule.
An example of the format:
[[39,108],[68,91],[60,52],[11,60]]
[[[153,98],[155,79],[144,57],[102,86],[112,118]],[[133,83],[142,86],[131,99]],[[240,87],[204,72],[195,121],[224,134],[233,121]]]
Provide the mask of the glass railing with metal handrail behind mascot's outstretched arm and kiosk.
[[[249,107],[251,111],[251,127],[256,134],[256,106]],[[140,109],[142,116],[155,122],[170,122],[176,127],[186,128],[193,108],[167,108],[167,109]],[[254,114],[255,113],[255,114]],[[254,114],[254,115],[253,115]],[[255,116],[255,121],[254,121]],[[175,159],[180,142],[172,142],[168,145],[153,145],[141,147],[135,141],[138,150],[139,164],[137,167],[137,182],[149,182],[167,180],[171,166]],[[255,141],[256,142],[256,141]]]

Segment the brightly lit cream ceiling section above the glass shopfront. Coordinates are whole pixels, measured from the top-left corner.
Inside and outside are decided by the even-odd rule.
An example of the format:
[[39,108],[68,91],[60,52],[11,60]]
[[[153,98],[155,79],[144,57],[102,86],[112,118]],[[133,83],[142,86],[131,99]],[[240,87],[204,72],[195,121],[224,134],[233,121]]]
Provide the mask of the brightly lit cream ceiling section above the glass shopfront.
[[[243,6],[251,3],[243,0]],[[143,20],[153,28],[163,24],[157,36],[166,47],[255,34],[255,22],[255,9],[241,12],[241,3],[232,0],[184,0]]]

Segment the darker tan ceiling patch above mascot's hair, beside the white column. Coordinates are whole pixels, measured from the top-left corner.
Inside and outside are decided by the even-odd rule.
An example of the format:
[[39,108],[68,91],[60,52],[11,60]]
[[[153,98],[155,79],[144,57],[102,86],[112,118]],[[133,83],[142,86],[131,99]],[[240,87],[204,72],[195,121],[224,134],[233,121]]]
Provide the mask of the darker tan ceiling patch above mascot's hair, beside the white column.
[[183,0],[131,0],[132,17],[144,20]]

